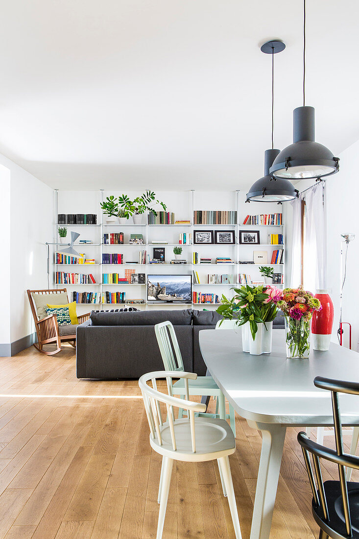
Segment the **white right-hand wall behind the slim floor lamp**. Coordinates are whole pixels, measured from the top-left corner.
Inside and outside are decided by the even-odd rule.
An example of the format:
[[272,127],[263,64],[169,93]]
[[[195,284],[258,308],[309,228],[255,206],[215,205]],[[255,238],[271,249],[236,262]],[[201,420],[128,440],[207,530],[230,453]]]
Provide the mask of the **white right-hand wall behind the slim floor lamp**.
[[[340,172],[327,179],[327,241],[328,241],[328,288],[332,289],[334,302],[334,326],[332,340],[337,342],[340,312],[340,251],[343,232],[356,234],[350,243],[347,260],[347,277],[343,290],[343,321],[353,328],[352,348],[357,347],[359,315],[357,306],[359,267],[359,219],[358,219],[358,173],[359,141],[340,155]],[[344,326],[344,343],[348,344],[349,332]]]

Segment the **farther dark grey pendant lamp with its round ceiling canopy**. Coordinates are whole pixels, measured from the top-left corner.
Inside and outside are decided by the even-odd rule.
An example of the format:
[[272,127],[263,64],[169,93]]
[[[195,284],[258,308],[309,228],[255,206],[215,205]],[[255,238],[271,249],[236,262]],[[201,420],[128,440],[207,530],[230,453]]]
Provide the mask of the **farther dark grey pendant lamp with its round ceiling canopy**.
[[298,191],[294,189],[291,182],[283,178],[273,178],[270,175],[270,167],[279,150],[273,148],[273,126],[274,126],[274,54],[284,51],[285,44],[281,41],[268,41],[260,47],[265,54],[272,54],[272,149],[264,152],[264,176],[254,182],[247,193],[247,202],[285,202],[298,197]]

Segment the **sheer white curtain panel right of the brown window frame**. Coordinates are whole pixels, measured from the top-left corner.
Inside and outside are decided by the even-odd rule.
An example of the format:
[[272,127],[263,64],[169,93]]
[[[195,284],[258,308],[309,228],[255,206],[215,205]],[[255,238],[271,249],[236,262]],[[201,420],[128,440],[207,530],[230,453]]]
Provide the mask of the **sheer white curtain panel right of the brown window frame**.
[[306,202],[303,285],[311,292],[327,288],[325,188],[325,182],[320,182],[302,194]]

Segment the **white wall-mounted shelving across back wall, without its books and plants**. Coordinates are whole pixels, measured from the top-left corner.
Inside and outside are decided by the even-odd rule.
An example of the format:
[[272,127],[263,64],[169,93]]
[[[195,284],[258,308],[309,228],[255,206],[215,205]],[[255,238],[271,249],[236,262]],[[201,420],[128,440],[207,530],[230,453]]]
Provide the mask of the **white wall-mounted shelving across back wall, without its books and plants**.
[[[178,192],[179,193],[179,192]],[[111,271],[117,272],[123,277],[125,276],[125,270],[126,269],[133,269],[135,273],[144,273],[146,275],[146,282],[147,282],[147,276],[150,275],[172,275],[172,274],[190,274],[192,275],[192,292],[202,293],[202,292],[211,292],[215,293],[215,295],[218,295],[219,299],[222,296],[222,293],[225,293],[225,295],[230,296],[232,294],[232,291],[230,290],[233,286],[240,286],[240,279],[239,275],[244,275],[243,272],[246,272],[245,275],[247,275],[248,279],[250,278],[253,282],[264,282],[264,278],[260,277],[259,274],[259,266],[265,265],[265,266],[271,266],[274,268],[274,273],[285,273],[285,241],[283,243],[276,243],[272,244],[270,243],[271,237],[270,234],[282,234],[284,236],[285,231],[285,205],[277,206],[275,204],[260,204],[260,203],[251,203],[250,205],[245,204],[245,198],[244,194],[239,191],[232,191],[229,192],[227,196],[227,203],[221,202],[220,205],[223,207],[227,207],[229,211],[232,212],[232,219],[233,215],[237,218],[237,223],[220,223],[220,224],[210,224],[210,223],[200,223],[200,224],[194,224],[194,212],[197,211],[198,208],[205,208],[206,204],[202,203],[201,201],[201,194],[196,194],[195,191],[187,192],[187,203],[183,203],[182,207],[180,209],[177,209],[177,198],[178,193],[176,192],[176,196],[174,196],[174,201],[171,204],[168,204],[168,206],[175,210],[175,218],[178,219],[188,219],[190,220],[190,223],[182,223],[182,224],[148,224],[145,223],[145,216],[143,217],[143,222],[141,224],[133,224],[131,222],[124,223],[124,224],[107,224],[104,222],[105,216],[102,216],[102,212],[100,210],[100,202],[103,200],[103,198],[106,198],[108,193],[106,195],[103,193],[103,191],[98,191],[97,193],[97,201],[92,203],[92,211],[97,211],[97,223],[96,224],[64,224],[64,223],[57,223],[57,214],[58,214],[58,194],[56,191],[56,204],[55,204],[55,219],[54,222],[54,228],[53,228],[53,241],[58,241],[57,236],[57,229],[58,226],[66,226],[68,229],[68,232],[71,232],[71,230],[78,231],[81,236],[80,239],[91,239],[92,243],[89,244],[74,244],[74,248],[79,253],[85,253],[88,255],[89,258],[95,259],[95,264],[56,264],[56,261],[54,261],[53,267],[54,272],[56,271],[63,271],[61,267],[69,267],[71,266],[71,270],[65,269],[65,271],[71,271],[76,273],[93,273],[95,278],[95,283],[78,283],[78,284],[68,284],[68,283],[61,283],[55,286],[58,287],[66,287],[69,296],[71,295],[72,291],[76,290],[76,287],[79,287],[79,290],[85,292],[93,291],[98,292],[100,294],[100,300],[102,301],[102,293],[106,292],[107,289],[112,291],[118,291],[125,292],[126,289],[126,295],[125,295],[125,302],[126,300],[130,299],[137,299],[141,298],[143,299],[143,303],[79,303],[79,305],[84,305],[87,309],[89,305],[92,305],[94,309],[101,309],[106,308],[108,305],[128,305],[128,306],[135,306],[138,307],[139,305],[142,307],[139,308],[153,308],[155,306],[158,307],[158,304],[151,304],[147,302],[147,287],[144,284],[132,284],[132,283],[106,283],[102,281],[102,273],[108,272],[109,268],[111,267]],[[116,194],[115,194],[116,196]],[[184,198],[183,192],[181,192],[182,199]],[[214,198],[214,197],[213,197]],[[61,211],[64,211],[66,209],[67,202],[65,199],[63,199],[63,202],[61,202],[61,208],[59,208]],[[72,208],[75,205],[75,203],[72,204]],[[213,208],[213,203],[210,204]],[[268,209],[271,208],[271,209]],[[268,212],[273,211],[273,213],[282,213],[283,214],[283,220],[282,224],[280,225],[274,225],[274,224],[258,224],[258,225],[248,225],[243,224],[243,221],[248,213],[248,208],[253,208],[253,213],[260,213],[260,212]],[[194,231],[195,230],[212,230],[215,232],[218,231],[233,231],[234,233],[234,244],[198,244],[194,243]],[[259,231],[260,236],[260,243],[259,244],[240,244],[239,243],[239,234],[241,230],[251,230]],[[88,231],[88,232],[87,232]],[[112,234],[112,233],[119,233],[123,232],[123,243],[122,244],[111,244],[111,243],[104,243],[103,242],[103,234]],[[133,244],[129,243],[130,234],[139,233],[143,236],[143,244]],[[191,234],[191,243],[178,243],[178,235],[180,233],[186,233]],[[269,239],[268,239],[269,238]],[[167,244],[163,243],[157,243],[156,240],[161,241],[168,241]],[[152,243],[153,241],[156,241],[156,243]],[[58,243],[54,246],[53,253],[56,251],[58,246],[61,245]],[[182,257],[187,262],[186,264],[171,264],[170,260],[174,259],[174,253],[173,248],[175,246],[181,246],[183,248],[182,251]],[[115,248],[115,249],[114,249]],[[165,264],[149,264],[149,258],[153,258],[153,249],[154,248],[164,248],[165,250]],[[243,264],[241,261],[244,260],[253,260],[253,251],[266,251],[268,253],[268,262],[271,261],[271,255],[273,250],[276,249],[284,249],[284,259],[282,260],[281,264]],[[139,256],[140,251],[146,251],[146,262],[145,263],[134,263],[135,260]],[[194,264],[193,263],[193,253],[198,252],[201,257],[203,258],[209,258],[211,259],[210,264]],[[121,253],[123,255],[123,264],[102,264],[102,254],[104,253]],[[220,264],[216,264],[216,258],[217,257],[227,257],[233,260],[233,262],[221,262]],[[139,260],[140,261],[140,260]],[[223,267],[219,267],[223,266]],[[247,266],[244,269],[244,266]],[[194,279],[194,271],[196,271],[199,274],[200,282],[195,282]],[[205,279],[207,278],[208,274],[217,274],[217,275],[226,275],[226,274],[233,274],[236,275],[236,282],[219,282],[219,283],[207,283],[205,282]],[[53,282],[55,280],[53,279]],[[284,284],[278,284],[276,286],[284,286]],[[213,288],[212,288],[213,287]],[[221,291],[222,288],[222,291]],[[217,292],[218,291],[218,292]],[[161,308],[176,308],[177,305],[188,305],[187,303],[163,303],[161,304]],[[206,303],[193,303],[192,305],[195,306],[195,308],[203,305],[205,307],[207,306],[213,306],[213,308],[216,308],[216,305],[220,305],[220,301],[213,303],[213,302],[206,302]]]

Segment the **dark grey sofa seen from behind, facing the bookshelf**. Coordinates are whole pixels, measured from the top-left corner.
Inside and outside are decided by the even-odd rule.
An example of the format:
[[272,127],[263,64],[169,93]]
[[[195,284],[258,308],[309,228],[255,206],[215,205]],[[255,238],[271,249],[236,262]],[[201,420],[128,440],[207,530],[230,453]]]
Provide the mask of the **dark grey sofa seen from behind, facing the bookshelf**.
[[[211,310],[95,312],[76,331],[76,375],[101,380],[139,378],[163,370],[154,326],[169,320],[176,331],[184,368],[206,374],[198,333],[214,329],[222,316]],[[273,328],[284,327],[280,317]]]

